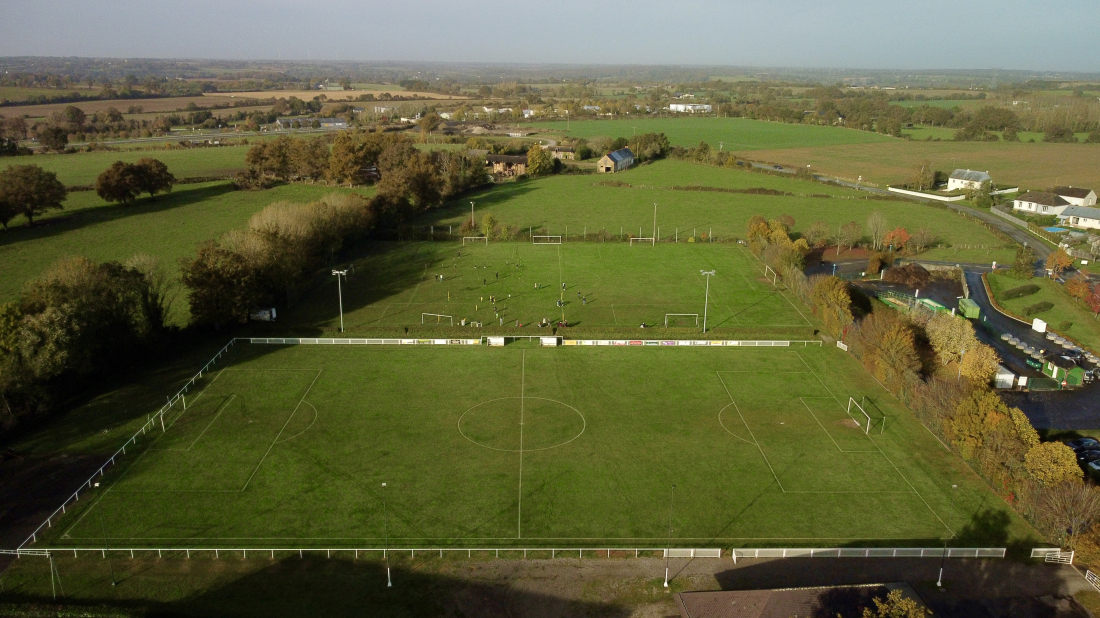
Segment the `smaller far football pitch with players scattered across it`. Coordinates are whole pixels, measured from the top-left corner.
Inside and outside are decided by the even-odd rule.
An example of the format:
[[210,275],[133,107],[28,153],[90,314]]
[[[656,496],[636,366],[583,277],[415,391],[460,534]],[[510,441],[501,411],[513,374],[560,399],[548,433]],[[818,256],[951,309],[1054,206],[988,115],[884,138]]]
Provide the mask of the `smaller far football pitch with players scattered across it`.
[[[354,275],[342,285],[344,328],[352,335],[380,329],[400,332],[402,327],[430,333],[431,328],[422,329],[421,322],[451,325],[449,319],[422,316],[437,313],[451,316],[454,327],[465,319],[468,324],[490,328],[468,328],[462,332],[469,334],[462,336],[502,332],[493,327],[548,334],[550,329],[537,327],[541,320],[566,321],[590,331],[632,329],[642,336],[642,323],[663,327],[667,313],[697,313],[702,325],[706,294],[702,269],[717,273],[710,287],[708,331],[771,328],[806,333],[799,339],[809,336],[814,323],[789,295],[763,278],[756,258],[738,245],[721,243],[656,247],[380,243],[354,261]],[[337,332],[340,322],[332,310],[337,286],[334,280],[329,284],[305,299],[288,319],[298,327]],[[517,324],[524,327],[521,331],[515,331]],[[693,318],[673,319],[670,327],[698,330]],[[457,331],[446,332],[453,335]]]

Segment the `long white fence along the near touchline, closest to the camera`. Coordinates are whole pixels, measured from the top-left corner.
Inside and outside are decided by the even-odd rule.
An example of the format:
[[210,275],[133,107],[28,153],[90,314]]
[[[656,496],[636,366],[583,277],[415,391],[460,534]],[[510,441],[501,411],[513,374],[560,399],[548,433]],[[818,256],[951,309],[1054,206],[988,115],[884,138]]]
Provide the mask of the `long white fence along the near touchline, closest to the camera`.
[[[332,554],[344,554],[349,556],[360,558],[360,554],[364,554],[364,558],[370,558],[374,555],[380,559],[388,558],[391,553],[395,554],[408,554],[409,558],[416,558],[417,554],[424,556],[438,556],[443,558],[444,554],[466,554],[466,558],[474,558],[476,553],[479,556],[492,554],[493,558],[527,558],[528,553],[539,553],[546,554],[550,552],[551,559],[558,558],[578,558],[583,559],[585,552],[592,558],[612,558],[612,553],[619,558],[630,558],[630,553],[634,553],[634,558],[639,558],[641,552],[653,553],[660,552],[661,558],[729,558],[734,562],[745,559],[771,559],[771,558],[1004,558],[1004,548],[788,548],[788,549],[734,549],[724,550],[722,548],[50,548],[41,550],[0,550],[0,554],[15,555],[15,556],[59,556],[73,554],[74,558],[79,556],[80,552],[99,554],[101,558],[107,558],[108,552],[112,554],[129,554],[130,558],[141,556],[152,556],[156,553],[157,558],[164,558],[164,554],[177,555],[183,558],[191,558],[195,555],[212,555],[215,559],[220,559],[222,556],[233,558],[240,556],[242,560],[248,559],[249,554],[253,558],[274,560],[276,552],[280,555],[295,555],[298,558],[305,558],[307,553],[319,554],[324,553],[326,558],[332,558]],[[1034,552],[1033,552],[1034,553]]]

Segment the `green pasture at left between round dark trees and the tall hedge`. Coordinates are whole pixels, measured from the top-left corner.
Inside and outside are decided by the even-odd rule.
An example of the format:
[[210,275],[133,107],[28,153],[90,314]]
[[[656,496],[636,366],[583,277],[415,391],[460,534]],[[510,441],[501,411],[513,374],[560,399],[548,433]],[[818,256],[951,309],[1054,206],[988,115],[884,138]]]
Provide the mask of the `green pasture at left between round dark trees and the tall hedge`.
[[[268,203],[309,201],[342,190],[346,189],[286,185],[267,191],[235,191],[229,183],[206,183],[182,185],[155,200],[142,198],[131,206],[108,205],[95,191],[74,192],[66,210],[44,220],[48,224],[20,225],[0,233],[0,302],[13,300],[25,282],[72,255],[124,261],[147,253],[175,273],[180,257],[193,256],[204,241],[244,225]],[[187,302],[180,296],[172,318],[185,323],[187,317]]]

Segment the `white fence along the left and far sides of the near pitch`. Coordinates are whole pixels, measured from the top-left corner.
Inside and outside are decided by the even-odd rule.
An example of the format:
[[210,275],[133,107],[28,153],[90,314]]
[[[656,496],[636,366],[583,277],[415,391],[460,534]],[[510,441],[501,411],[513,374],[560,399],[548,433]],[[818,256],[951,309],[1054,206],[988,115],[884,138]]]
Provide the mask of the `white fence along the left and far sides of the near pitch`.
[[[546,338],[549,339],[549,338]],[[561,338],[554,338],[560,342],[561,345],[721,345],[721,346],[779,346],[788,347],[791,345],[821,345],[821,341],[723,341],[723,340],[564,340]],[[172,409],[173,406],[184,400],[184,396],[187,390],[195,386],[195,382],[202,377],[202,374],[210,371],[222,354],[224,354],[230,347],[232,347],[238,341],[248,341],[250,343],[258,344],[283,344],[283,345],[307,345],[307,344],[318,344],[318,345],[481,345],[485,342],[487,338],[479,339],[302,339],[302,338],[234,338],[226,344],[224,347],[218,351],[217,354],[202,366],[201,369],[187,383],[184,385],[179,391],[176,393],[174,397],[168,397],[167,402],[161,406],[161,409],[148,417],[145,424],[141,426],[141,429],[134,432],[133,435],[127,440],[122,446],[116,451],[103,465],[99,466],[91,476],[85,481],[76,492],[73,492],[68,498],[62,503],[62,506],[57,507],[50,516],[38,525],[37,528],[31,532],[31,536],[23,540],[19,544],[18,550],[23,551],[23,548],[30,543],[36,542],[38,540],[38,533],[42,532],[43,528],[53,528],[53,520],[58,516],[65,515],[68,507],[74,503],[80,500],[80,492],[85,489],[91,489],[95,486],[95,481],[97,477],[103,476],[105,471],[114,465],[114,460],[119,456],[127,454],[127,446],[136,445],[138,439],[145,435],[148,431],[156,428],[157,424],[161,426],[161,431],[164,431],[164,413]],[[66,550],[69,551],[69,550]],[[113,550],[112,550],[113,551]],[[204,551],[204,550],[193,550],[193,551]],[[432,550],[433,551],[433,550]],[[509,550],[510,551],[510,550]],[[569,550],[574,551],[574,550]]]

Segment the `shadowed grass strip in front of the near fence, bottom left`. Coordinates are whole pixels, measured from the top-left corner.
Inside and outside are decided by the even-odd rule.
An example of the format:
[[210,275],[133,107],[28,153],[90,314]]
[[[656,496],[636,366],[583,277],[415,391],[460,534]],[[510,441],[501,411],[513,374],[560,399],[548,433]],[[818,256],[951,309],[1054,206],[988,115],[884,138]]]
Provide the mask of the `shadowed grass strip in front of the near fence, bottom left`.
[[[0,602],[51,606],[58,614],[65,606],[73,606],[73,609],[107,606],[117,611],[74,611],[73,615],[112,617],[539,615],[617,618],[630,614],[628,608],[614,603],[522,589],[501,577],[479,578],[475,574],[477,561],[471,563],[464,556],[462,562],[394,560],[393,587],[386,587],[385,563],[350,558],[116,559],[117,586],[111,585],[107,561],[61,559],[57,570],[67,594],[57,602],[52,598],[48,563],[41,559],[34,562],[33,565],[21,564],[18,573],[6,576],[8,585],[6,593],[0,594]],[[517,560],[512,573],[521,574],[524,567]],[[55,615],[53,611],[48,615]]]

